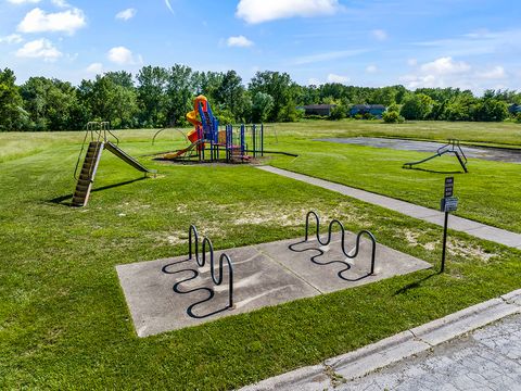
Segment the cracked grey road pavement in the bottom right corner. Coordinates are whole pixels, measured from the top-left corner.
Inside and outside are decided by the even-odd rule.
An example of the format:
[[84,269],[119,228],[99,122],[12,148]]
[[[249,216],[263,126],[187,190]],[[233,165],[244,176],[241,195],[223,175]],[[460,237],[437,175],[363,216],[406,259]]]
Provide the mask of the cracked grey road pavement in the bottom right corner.
[[335,390],[521,390],[521,315],[343,383]]

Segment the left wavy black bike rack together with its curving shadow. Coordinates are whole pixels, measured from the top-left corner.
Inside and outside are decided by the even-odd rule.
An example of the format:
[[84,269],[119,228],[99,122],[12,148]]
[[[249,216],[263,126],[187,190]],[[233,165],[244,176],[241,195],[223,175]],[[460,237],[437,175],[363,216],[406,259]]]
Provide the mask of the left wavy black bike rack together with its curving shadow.
[[[199,253],[199,234],[198,234],[198,229],[193,225],[191,225],[189,230],[188,230],[188,241],[189,241],[189,243],[188,243],[188,260],[175,262],[175,263],[165,265],[162,268],[163,273],[165,273],[165,274],[174,275],[174,274],[187,273],[187,272],[192,274],[191,277],[188,277],[188,278],[185,278],[180,281],[177,281],[174,285],[174,288],[173,288],[174,292],[180,293],[180,294],[193,293],[193,292],[196,292],[196,291],[208,292],[208,297],[206,299],[200,300],[200,301],[191,304],[187,308],[187,314],[189,316],[193,317],[193,318],[202,319],[202,318],[218,314],[223,311],[234,308],[234,305],[233,305],[233,266],[232,266],[230,257],[225,253],[220,254],[218,268],[216,270],[215,260],[214,260],[214,245],[212,244],[212,241],[206,237],[203,238],[202,252],[200,254]],[[199,267],[204,267],[206,265],[206,253],[209,254],[209,273],[211,273],[211,276],[212,276],[212,281],[214,282],[214,287],[213,288],[201,287],[201,288],[182,290],[179,286],[183,282],[191,281],[191,280],[198,278],[199,275],[200,275],[199,269],[183,268],[183,269],[180,269],[180,270],[169,272],[169,268],[171,266],[192,261],[193,258],[195,260],[196,265]],[[215,295],[215,289],[214,288],[220,286],[224,282],[224,276],[225,275],[224,275],[223,268],[224,268],[225,262],[228,264],[228,304],[225,307],[216,310],[216,311],[211,312],[208,314],[196,315],[193,310],[198,305],[211,301]]]

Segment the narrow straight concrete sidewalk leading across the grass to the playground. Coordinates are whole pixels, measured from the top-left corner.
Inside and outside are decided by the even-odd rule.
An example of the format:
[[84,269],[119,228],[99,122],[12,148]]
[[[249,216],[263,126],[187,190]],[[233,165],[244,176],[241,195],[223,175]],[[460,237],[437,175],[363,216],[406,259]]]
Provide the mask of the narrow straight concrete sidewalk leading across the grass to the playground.
[[[431,210],[428,207],[411,204],[409,202],[395,200],[390,197],[376,194],[369,191],[355,189],[348,186],[334,184],[328,180],[314,178],[307,175],[296,174],[281,168],[271,166],[258,166],[257,168],[268,173],[284,176],[300,180],[309,185],[318,186],[323,189],[339,192],[341,194],[355,198],[360,201],[365,201],[374,205],[386,207],[389,210],[405,214],[410,217],[415,217],[424,222],[433,223],[439,226],[443,226],[444,214],[442,212]],[[458,216],[450,216],[449,224],[450,229],[466,232],[480,239],[490,240],[500,244],[505,244],[511,248],[521,249],[521,235],[507,231],[505,229],[491,227],[478,222],[473,222],[467,218]]]

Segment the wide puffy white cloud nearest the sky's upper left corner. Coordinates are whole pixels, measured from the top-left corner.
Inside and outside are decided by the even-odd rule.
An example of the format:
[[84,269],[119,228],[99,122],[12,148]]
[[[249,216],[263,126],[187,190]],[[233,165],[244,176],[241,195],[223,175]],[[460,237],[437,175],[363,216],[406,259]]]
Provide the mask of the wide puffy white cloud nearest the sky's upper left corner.
[[46,13],[36,8],[25,15],[18,24],[17,30],[22,33],[66,31],[74,34],[86,24],[84,12],[79,9]]

